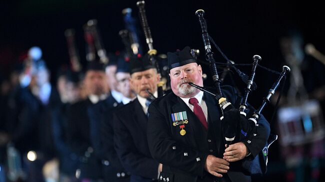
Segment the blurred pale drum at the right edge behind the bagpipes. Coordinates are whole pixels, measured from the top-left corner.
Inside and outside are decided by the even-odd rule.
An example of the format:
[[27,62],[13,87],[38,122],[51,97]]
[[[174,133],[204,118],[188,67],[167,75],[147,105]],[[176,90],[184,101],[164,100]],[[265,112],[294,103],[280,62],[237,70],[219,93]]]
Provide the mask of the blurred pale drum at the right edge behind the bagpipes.
[[306,144],[325,136],[323,114],[316,100],[279,108],[277,121],[282,146]]

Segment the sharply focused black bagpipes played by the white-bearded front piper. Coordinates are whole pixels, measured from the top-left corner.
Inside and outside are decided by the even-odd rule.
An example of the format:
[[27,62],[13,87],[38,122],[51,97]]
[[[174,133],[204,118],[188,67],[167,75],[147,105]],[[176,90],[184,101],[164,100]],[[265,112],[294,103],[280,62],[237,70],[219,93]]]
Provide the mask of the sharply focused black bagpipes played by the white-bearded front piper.
[[[244,97],[241,100],[239,108],[235,108],[230,102],[227,101],[227,99],[223,96],[221,92],[220,87],[220,79],[217,73],[215,61],[213,58],[213,52],[211,51],[211,45],[210,45],[210,36],[207,33],[206,28],[206,21],[203,18],[204,11],[202,9],[199,9],[195,12],[195,15],[198,17],[201,30],[202,30],[202,39],[204,43],[205,48],[205,59],[208,61],[210,72],[212,74],[212,81],[214,86],[216,87],[216,94],[212,94],[211,92],[207,92],[209,94],[212,94],[215,96],[215,99],[218,101],[220,111],[221,111],[221,128],[222,128],[222,135],[224,136],[224,143],[226,145],[234,144],[237,142],[244,142],[247,135],[255,136],[257,135],[257,128],[258,128],[258,119],[260,119],[261,111],[265,107],[265,105],[269,102],[270,97],[274,94],[275,90],[278,88],[281,80],[285,77],[285,74],[290,71],[288,66],[282,67],[282,72],[278,76],[277,80],[274,82],[272,87],[269,89],[268,94],[265,98],[263,98],[262,104],[259,106],[257,110],[255,110],[251,117],[248,119],[246,118],[246,112],[247,112],[247,98],[249,93],[252,91],[254,82],[253,79],[255,77],[255,69],[258,65],[258,61],[261,60],[261,57],[258,55],[253,56],[253,66],[251,70],[251,75],[245,83],[247,84],[247,87],[245,88],[245,94]],[[213,41],[213,40],[211,40]],[[218,47],[217,47],[218,48]],[[233,64],[229,64],[231,67],[234,68]],[[236,72],[239,74],[242,80],[246,80],[247,76],[244,75],[244,73],[240,72],[238,69],[236,69]],[[246,77],[246,78],[245,78]],[[190,83],[190,85],[206,92],[206,90],[200,86],[194,85]],[[272,141],[268,141],[268,144],[272,143],[275,137],[272,138]],[[250,143],[250,141],[245,141],[247,143]]]

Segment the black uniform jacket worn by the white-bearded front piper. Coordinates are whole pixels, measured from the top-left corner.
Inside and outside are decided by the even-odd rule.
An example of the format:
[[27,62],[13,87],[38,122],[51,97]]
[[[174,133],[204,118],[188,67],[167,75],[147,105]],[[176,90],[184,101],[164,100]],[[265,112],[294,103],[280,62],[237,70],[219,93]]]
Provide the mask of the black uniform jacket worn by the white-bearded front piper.
[[[238,100],[232,87],[226,86],[222,92],[231,103]],[[213,182],[216,179],[204,170],[204,165],[208,155],[221,159],[223,157],[225,147],[220,112],[218,103],[212,96],[204,93],[203,100],[208,108],[208,131],[203,128],[189,107],[173,93],[160,97],[150,104],[147,138],[153,158],[163,164],[158,178],[160,181]],[[179,126],[173,126],[175,119],[171,116],[179,112],[185,112],[188,121],[184,124],[183,129],[186,133],[183,136],[180,135]],[[247,136],[247,141],[244,141],[251,155],[230,163],[230,170],[226,175],[223,174],[232,182],[250,181],[252,159],[263,149],[270,133],[269,124],[263,116],[258,122],[258,135]]]

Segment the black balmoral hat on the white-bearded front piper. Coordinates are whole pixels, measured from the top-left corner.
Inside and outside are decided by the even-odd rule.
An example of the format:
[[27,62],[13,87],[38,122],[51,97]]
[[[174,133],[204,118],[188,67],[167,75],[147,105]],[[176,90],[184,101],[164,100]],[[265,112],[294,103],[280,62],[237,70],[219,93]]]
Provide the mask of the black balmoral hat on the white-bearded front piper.
[[186,46],[181,51],[167,52],[168,69],[183,66],[188,63],[197,62],[191,55],[189,46]]

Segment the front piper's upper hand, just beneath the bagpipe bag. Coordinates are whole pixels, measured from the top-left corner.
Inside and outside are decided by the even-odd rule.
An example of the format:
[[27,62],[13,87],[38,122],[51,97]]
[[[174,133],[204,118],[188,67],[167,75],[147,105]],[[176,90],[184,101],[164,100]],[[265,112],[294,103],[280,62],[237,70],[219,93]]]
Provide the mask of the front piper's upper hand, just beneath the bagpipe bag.
[[243,159],[248,154],[247,147],[242,142],[229,145],[224,150],[223,159],[228,162],[235,162]]

